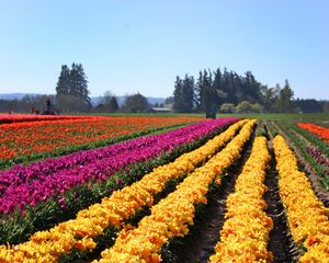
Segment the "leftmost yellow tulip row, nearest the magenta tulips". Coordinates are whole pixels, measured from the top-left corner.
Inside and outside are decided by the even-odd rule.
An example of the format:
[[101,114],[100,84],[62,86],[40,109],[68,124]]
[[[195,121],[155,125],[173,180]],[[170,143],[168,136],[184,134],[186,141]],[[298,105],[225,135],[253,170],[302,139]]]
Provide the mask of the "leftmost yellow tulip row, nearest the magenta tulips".
[[[81,251],[95,248],[94,238],[101,236],[109,226],[122,224],[144,206],[151,206],[154,195],[166,187],[171,179],[178,179],[191,172],[216,150],[229,141],[246,123],[240,121],[201,148],[181,156],[174,162],[159,167],[140,181],[114,192],[101,203],[78,213],[76,219],[32,235],[30,241],[19,245],[1,245],[1,262],[56,262],[57,259],[76,248]],[[250,124],[248,125],[250,126]]]

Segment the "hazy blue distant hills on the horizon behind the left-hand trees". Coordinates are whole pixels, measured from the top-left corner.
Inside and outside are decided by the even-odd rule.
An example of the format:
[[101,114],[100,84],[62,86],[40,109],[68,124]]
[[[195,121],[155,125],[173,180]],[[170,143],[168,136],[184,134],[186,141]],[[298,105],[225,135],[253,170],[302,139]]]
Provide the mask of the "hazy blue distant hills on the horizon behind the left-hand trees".
[[[30,96],[36,96],[36,95],[44,95],[44,94],[37,94],[37,93],[0,93],[0,100],[22,100],[25,95]],[[54,94],[50,94],[54,95]],[[91,103],[92,105],[98,105],[102,99],[102,96],[91,96]],[[123,105],[125,101],[125,96],[116,96],[118,105]],[[164,102],[166,98],[154,98],[154,96],[147,96],[146,98],[149,104],[161,104]]]

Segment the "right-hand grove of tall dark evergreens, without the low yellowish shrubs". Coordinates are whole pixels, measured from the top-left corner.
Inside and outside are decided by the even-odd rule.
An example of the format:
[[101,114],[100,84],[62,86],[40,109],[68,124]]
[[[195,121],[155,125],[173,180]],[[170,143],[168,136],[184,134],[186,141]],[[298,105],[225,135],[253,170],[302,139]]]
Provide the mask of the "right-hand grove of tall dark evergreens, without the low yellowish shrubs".
[[[186,108],[189,112],[191,108],[184,104],[183,95],[189,78],[185,77],[184,80],[181,80],[177,77],[174,85],[174,108],[177,112],[185,112]],[[247,71],[245,76],[228,71],[227,68],[224,68],[223,72],[219,68],[215,71],[200,71],[193,93],[194,108],[196,112],[206,112],[206,115],[214,115],[223,104],[238,105],[243,101],[253,105],[251,108],[253,112],[288,112],[294,110],[292,101],[294,93],[287,80],[284,89],[281,89],[280,85],[269,89],[257,81],[251,71]]]

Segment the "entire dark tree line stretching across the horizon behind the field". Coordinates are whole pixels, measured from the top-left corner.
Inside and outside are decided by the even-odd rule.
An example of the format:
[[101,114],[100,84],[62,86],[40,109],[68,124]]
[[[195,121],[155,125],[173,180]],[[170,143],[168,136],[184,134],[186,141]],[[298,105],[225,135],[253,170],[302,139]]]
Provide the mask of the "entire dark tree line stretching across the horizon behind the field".
[[[145,113],[151,106],[143,94],[127,95],[123,105],[117,98],[106,91],[97,105],[89,96],[88,80],[81,64],[73,62],[71,68],[61,66],[56,84],[56,95],[26,95],[22,100],[0,100],[0,112],[30,112],[38,108],[46,112],[46,103],[52,102],[55,113],[83,112],[127,112]],[[164,104],[177,113],[206,113],[207,117],[216,113],[286,113],[286,112],[329,112],[328,101],[314,99],[294,99],[294,92],[285,80],[281,88],[269,88],[256,79],[251,71],[243,76],[226,68],[222,71],[204,69],[197,78],[185,75],[174,81],[173,96]],[[48,105],[49,106],[49,105]],[[161,105],[160,105],[161,106]]]

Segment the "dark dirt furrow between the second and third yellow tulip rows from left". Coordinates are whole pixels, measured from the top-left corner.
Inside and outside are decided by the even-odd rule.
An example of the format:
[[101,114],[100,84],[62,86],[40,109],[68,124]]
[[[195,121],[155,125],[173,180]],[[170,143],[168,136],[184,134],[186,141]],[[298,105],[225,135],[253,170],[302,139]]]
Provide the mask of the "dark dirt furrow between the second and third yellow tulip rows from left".
[[235,190],[235,181],[250,156],[253,139],[254,135],[245,146],[239,161],[227,171],[222,184],[212,188],[207,197],[208,203],[197,213],[191,232],[184,238],[174,240],[164,249],[164,254],[168,256],[163,262],[206,263],[208,261],[214,253],[214,247],[219,240],[219,231],[225,221],[227,196]]

